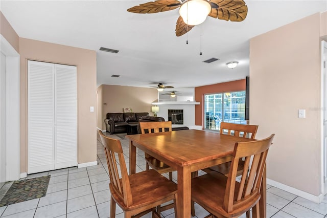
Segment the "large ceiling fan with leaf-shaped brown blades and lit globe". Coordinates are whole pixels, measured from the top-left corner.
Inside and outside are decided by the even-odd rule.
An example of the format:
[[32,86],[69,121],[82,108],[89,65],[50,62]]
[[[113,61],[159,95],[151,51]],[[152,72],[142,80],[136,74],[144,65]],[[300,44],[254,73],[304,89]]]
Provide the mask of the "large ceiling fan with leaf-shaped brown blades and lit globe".
[[[157,0],[127,9],[129,12],[147,14],[170,11],[179,8],[176,36],[189,32],[203,23],[207,16],[230,21],[243,21],[247,6],[243,0]],[[193,9],[193,10],[192,10]],[[201,11],[201,14],[199,14]],[[201,15],[201,16],[199,16]]]

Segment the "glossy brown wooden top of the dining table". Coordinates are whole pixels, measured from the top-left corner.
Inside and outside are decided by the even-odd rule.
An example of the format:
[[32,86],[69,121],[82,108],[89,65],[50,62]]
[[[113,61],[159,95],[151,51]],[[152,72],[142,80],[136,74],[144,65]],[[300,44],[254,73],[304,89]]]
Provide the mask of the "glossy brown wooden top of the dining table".
[[147,150],[179,166],[232,155],[236,142],[253,140],[196,129],[128,135],[126,138],[131,140],[136,147],[137,144],[142,145]]

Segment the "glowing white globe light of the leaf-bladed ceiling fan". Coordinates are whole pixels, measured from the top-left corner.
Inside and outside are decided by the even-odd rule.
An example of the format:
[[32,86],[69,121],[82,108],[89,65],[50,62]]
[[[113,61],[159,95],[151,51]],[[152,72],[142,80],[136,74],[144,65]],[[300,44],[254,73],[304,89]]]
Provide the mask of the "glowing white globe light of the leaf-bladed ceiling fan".
[[186,0],[179,8],[179,15],[185,24],[195,26],[202,24],[211,10],[206,0]]

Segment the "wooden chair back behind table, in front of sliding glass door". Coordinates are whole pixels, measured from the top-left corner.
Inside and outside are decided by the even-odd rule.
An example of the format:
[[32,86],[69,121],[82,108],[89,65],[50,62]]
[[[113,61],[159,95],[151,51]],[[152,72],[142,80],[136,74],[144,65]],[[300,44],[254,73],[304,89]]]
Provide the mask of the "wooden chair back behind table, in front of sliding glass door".
[[[227,130],[227,135],[254,139],[258,125],[245,125],[237,123],[220,123],[220,134],[224,134],[224,129]],[[241,135],[243,133],[243,136]]]

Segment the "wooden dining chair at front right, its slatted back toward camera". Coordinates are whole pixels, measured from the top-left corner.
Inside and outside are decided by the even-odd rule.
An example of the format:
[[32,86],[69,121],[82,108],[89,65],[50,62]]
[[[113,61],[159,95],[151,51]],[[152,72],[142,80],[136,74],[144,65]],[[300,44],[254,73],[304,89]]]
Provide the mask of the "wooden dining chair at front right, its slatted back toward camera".
[[[263,140],[239,142],[234,146],[228,177],[216,171],[193,178],[191,198],[213,217],[238,217],[252,208],[259,217],[260,188],[268,149],[274,134]],[[251,157],[253,158],[250,166]],[[245,158],[241,181],[236,181],[239,161]],[[247,169],[249,176],[246,178]],[[249,213],[247,213],[248,215]]]

